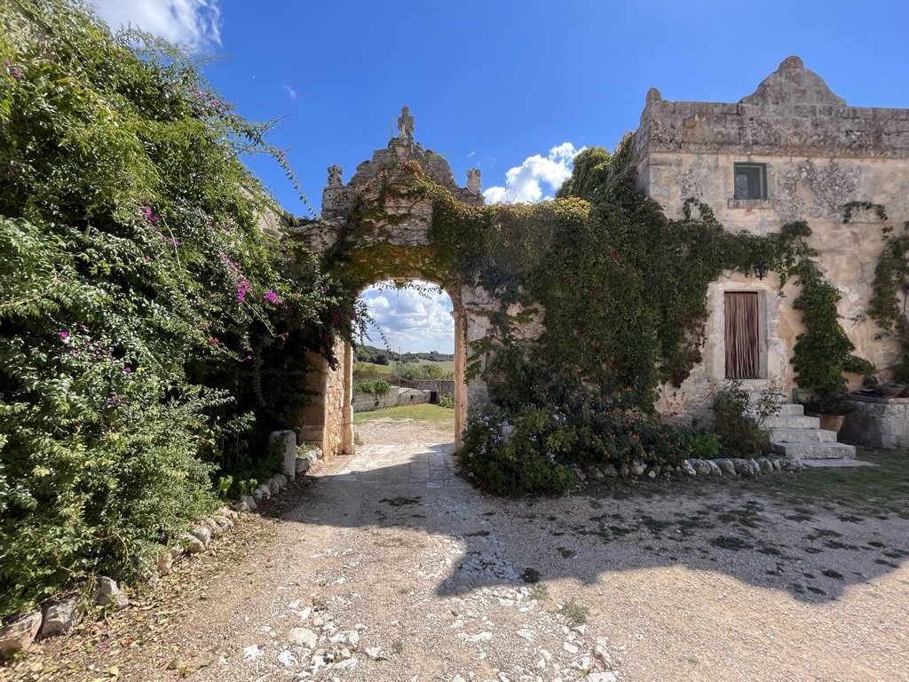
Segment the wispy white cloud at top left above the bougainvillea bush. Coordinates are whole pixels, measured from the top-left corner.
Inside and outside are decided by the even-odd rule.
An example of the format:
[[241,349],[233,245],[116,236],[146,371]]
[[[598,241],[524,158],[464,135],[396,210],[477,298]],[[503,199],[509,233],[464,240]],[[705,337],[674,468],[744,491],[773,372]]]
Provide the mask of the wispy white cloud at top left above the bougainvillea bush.
[[111,28],[133,25],[171,43],[221,44],[218,0],[91,0]]

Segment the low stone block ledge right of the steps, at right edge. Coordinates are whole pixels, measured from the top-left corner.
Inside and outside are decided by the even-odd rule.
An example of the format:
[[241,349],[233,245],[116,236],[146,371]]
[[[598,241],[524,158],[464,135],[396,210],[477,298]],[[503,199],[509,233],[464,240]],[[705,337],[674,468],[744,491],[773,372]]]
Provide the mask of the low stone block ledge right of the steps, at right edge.
[[895,450],[909,446],[909,398],[849,396],[840,437],[859,446]]

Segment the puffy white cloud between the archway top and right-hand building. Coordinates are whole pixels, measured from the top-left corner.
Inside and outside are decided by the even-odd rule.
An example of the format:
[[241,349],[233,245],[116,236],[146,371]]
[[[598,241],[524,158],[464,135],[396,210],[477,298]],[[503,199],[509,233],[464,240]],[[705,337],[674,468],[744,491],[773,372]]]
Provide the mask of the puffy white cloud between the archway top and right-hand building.
[[[570,142],[554,146],[549,154],[535,154],[524,160],[524,163],[509,169],[505,173],[503,186],[488,187],[483,196],[489,204],[526,202],[533,204],[543,198],[553,196],[565,180],[571,176],[574,156],[581,149],[575,149]],[[544,197],[544,186],[547,193]]]

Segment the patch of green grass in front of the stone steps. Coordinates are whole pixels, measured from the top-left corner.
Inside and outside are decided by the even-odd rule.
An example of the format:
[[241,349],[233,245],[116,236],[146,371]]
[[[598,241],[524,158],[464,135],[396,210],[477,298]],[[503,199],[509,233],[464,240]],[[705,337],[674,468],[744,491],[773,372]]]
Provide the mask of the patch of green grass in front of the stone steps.
[[798,502],[834,503],[909,518],[909,453],[860,447],[879,466],[805,467],[795,476],[760,476],[749,486]]

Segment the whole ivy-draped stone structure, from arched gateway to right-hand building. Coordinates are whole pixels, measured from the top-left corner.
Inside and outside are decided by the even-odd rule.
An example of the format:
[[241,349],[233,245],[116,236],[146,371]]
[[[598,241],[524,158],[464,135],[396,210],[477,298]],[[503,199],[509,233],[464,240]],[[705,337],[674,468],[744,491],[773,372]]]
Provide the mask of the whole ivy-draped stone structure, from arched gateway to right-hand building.
[[[479,171],[458,186],[445,160],[415,143],[405,107],[399,134],[350,182],[329,169],[321,219],[291,228],[351,291],[386,278],[445,286],[459,441],[468,406],[474,414],[492,398],[517,410],[521,392],[567,366],[586,386],[626,386],[619,406],[705,426],[727,379],[788,396],[796,373],[803,387],[816,387],[805,376],[835,387],[844,369],[871,371],[857,358],[887,378],[904,362],[904,316],[894,314],[904,249],[883,276],[880,263],[909,218],[909,110],[847,105],[791,56],[735,104],[668,102],[651,89],[615,155],[584,154],[555,201],[483,206]],[[623,178],[634,178],[630,190]],[[667,235],[682,236],[674,251]],[[824,306],[837,306],[835,328],[807,329],[809,309],[824,318]],[[339,343],[339,369],[311,358],[309,388],[322,397],[301,416],[303,437],[327,452],[353,446],[352,353]],[[515,357],[533,357],[535,369]],[[830,435],[798,406],[776,426],[778,440],[807,442],[784,446],[791,452],[852,454],[824,444]]]

